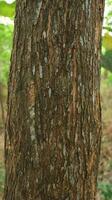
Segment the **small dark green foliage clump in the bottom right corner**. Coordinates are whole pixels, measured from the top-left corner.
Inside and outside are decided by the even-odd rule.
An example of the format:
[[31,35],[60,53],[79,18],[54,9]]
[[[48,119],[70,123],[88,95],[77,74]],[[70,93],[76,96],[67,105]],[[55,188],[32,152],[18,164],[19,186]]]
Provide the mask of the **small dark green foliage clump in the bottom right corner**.
[[112,200],[112,184],[102,182],[98,184],[98,189],[101,191],[103,200]]

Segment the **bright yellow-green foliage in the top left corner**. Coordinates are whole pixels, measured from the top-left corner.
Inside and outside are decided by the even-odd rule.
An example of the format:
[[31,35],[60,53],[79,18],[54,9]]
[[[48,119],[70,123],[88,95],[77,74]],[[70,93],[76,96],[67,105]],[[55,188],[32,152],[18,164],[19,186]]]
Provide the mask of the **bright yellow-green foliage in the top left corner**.
[[8,4],[5,1],[0,1],[0,16],[14,17],[15,3]]

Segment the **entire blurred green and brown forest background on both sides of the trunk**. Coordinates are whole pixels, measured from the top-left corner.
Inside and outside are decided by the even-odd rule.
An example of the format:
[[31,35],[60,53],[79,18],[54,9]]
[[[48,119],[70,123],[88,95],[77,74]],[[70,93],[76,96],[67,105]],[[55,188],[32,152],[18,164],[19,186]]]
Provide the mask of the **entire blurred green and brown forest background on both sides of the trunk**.
[[[14,28],[14,0],[0,0],[0,199],[4,187],[4,125]],[[112,200],[112,0],[106,0],[102,32],[101,101],[103,137],[97,200]]]

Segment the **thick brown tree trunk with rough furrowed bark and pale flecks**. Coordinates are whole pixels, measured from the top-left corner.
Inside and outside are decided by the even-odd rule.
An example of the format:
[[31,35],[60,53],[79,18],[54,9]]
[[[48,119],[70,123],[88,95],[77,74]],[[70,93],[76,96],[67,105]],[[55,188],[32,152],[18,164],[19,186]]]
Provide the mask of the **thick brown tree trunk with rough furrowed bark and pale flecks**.
[[5,200],[94,200],[103,0],[17,0]]

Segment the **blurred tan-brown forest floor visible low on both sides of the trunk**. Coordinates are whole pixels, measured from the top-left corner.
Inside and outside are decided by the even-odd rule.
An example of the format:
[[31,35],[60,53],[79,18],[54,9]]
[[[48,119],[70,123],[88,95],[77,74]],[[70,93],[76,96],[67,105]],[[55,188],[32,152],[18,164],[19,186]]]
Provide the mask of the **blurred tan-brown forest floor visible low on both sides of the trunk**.
[[[102,94],[102,121],[103,136],[98,178],[97,200],[112,200],[112,85],[103,81]],[[0,200],[4,185],[4,134],[0,129]]]

